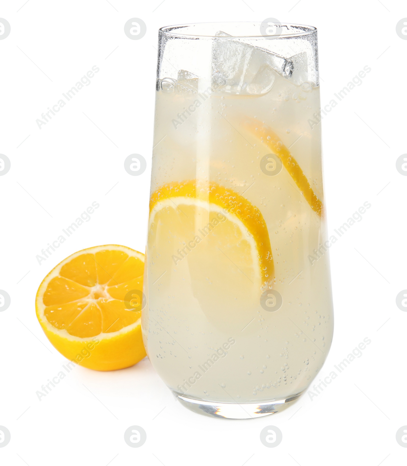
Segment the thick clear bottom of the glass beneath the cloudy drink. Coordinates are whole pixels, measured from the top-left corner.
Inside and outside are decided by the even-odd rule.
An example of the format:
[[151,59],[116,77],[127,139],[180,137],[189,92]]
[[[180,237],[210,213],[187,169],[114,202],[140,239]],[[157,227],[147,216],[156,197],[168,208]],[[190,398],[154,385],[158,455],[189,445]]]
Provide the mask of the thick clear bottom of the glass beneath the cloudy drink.
[[297,393],[289,398],[281,400],[270,400],[263,403],[219,403],[216,401],[205,401],[199,398],[192,398],[172,390],[178,401],[191,411],[211,418],[221,419],[254,419],[283,411],[298,397],[302,392]]

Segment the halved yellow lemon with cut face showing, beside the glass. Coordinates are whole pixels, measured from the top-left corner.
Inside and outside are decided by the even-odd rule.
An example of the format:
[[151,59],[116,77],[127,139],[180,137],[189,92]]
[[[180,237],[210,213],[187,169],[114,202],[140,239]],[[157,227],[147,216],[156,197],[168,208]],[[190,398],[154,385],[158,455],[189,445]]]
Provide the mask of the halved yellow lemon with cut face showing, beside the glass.
[[144,254],[118,245],[62,260],[38,288],[35,309],[49,341],[95,370],[132,366],[146,356],[141,334]]

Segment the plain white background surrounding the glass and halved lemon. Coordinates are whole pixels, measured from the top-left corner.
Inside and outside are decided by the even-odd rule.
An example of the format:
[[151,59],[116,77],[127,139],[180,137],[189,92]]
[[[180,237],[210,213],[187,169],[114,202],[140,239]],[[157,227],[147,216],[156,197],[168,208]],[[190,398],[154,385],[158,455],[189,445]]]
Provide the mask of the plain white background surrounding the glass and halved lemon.
[[[395,168],[406,150],[406,51],[395,26],[401,1],[126,0],[2,2],[11,34],[0,41],[0,425],[11,442],[2,465],[404,465],[395,433],[407,425],[406,319],[395,304],[407,288],[407,178]],[[19,11],[17,11],[19,10]],[[154,10],[154,11],[153,11]],[[130,40],[130,18],[147,33]],[[372,207],[331,248],[335,331],[319,377],[369,337],[372,343],[312,400],[248,421],[205,418],[183,408],[149,361],[99,373],[76,367],[38,400],[35,392],[66,360],[35,316],[42,278],[69,254],[99,244],[144,252],[156,79],[157,30],[204,21],[311,24],[319,31],[322,104],[365,65],[372,71],[322,122],[329,231],[365,201]],[[96,65],[63,109],[35,120]],[[23,142],[24,141],[24,142]],[[123,168],[131,153],[147,159],[142,176]],[[100,208],[46,261],[35,256],[91,205]],[[24,278],[23,278],[24,277]],[[140,425],[147,441],[123,440]],[[275,448],[259,433],[276,425]]]

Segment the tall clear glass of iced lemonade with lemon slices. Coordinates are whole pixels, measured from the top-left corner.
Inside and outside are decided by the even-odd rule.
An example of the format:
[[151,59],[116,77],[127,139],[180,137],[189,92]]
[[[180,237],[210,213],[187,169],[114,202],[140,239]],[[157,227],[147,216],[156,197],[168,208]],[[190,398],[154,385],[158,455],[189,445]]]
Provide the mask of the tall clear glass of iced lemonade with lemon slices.
[[317,30],[159,31],[144,345],[193,411],[254,418],[332,342]]

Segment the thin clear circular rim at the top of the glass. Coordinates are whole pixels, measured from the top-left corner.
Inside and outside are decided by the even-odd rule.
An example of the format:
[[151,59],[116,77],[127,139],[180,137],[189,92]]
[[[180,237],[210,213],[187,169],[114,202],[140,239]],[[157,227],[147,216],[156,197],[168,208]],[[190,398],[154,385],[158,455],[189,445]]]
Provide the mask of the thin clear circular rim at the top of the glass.
[[[263,21],[264,22],[264,21]],[[252,38],[252,39],[279,39],[279,38],[290,38],[290,37],[306,37],[317,32],[317,28],[314,26],[307,26],[305,24],[297,24],[297,23],[279,23],[282,27],[286,27],[290,29],[291,27],[297,28],[297,31],[290,31],[287,30],[285,32],[281,32],[276,36],[268,36],[263,35],[260,32],[258,34],[243,34],[243,35],[215,35],[215,34],[188,34],[183,33],[181,31],[176,32],[178,30],[183,30],[185,28],[194,27],[194,26],[210,26],[210,25],[253,25],[257,26],[258,30],[260,31],[260,26],[263,22],[256,22],[256,21],[214,21],[214,22],[203,22],[203,23],[186,23],[186,24],[176,24],[172,26],[163,26],[160,27],[158,30],[159,33],[165,34],[166,36],[170,37],[185,37],[185,38],[192,38],[192,39],[199,39],[199,38],[207,38],[207,39],[244,39],[244,38]]]

